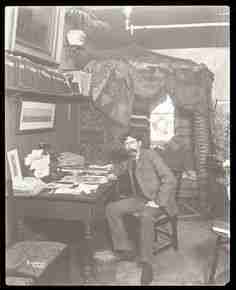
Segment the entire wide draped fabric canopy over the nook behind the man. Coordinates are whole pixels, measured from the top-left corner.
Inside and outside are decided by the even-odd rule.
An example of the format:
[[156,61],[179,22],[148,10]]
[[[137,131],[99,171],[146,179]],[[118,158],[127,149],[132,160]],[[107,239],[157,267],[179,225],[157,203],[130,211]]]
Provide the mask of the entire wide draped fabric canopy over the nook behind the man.
[[92,54],[84,71],[92,73],[92,97],[112,120],[128,126],[135,95],[154,108],[169,94],[174,105],[208,113],[206,87],[213,74],[204,64],[168,57],[137,46]]

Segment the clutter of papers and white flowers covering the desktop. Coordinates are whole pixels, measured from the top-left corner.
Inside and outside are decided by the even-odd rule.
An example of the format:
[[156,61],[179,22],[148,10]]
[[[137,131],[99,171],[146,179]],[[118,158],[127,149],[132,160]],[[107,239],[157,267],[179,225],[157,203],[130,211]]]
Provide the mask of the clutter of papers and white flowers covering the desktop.
[[[8,152],[9,160],[10,154]],[[63,194],[89,198],[99,187],[116,179],[112,164],[85,164],[83,156],[72,152],[54,155],[44,152],[44,149],[34,149],[24,158],[31,176],[22,177],[20,174],[12,179],[14,196]],[[18,153],[16,159],[17,156]]]

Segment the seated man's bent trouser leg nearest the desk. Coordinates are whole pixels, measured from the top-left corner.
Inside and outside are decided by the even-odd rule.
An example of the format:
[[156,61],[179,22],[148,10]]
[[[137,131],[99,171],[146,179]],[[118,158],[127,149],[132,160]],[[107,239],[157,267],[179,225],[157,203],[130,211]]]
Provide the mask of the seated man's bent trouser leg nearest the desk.
[[145,201],[138,198],[127,198],[111,202],[106,206],[106,217],[109,223],[114,250],[132,250],[128,233],[124,226],[125,214],[143,210]]

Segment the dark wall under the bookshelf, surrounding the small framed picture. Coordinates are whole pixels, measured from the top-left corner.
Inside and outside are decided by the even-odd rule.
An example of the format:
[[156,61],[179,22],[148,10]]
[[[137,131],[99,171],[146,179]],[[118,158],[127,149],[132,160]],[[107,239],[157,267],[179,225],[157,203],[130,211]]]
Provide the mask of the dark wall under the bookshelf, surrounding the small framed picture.
[[[6,151],[18,149],[21,166],[26,154],[35,149],[39,142],[50,143],[59,152],[76,151],[76,132],[79,130],[79,119],[76,116],[76,106],[72,105],[71,120],[68,120],[68,105],[56,105],[55,130],[51,132],[34,134],[16,134],[17,104],[16,99],[6,96],[5,98],[5,137]],[[7,176],[9,176],[7,164]]]

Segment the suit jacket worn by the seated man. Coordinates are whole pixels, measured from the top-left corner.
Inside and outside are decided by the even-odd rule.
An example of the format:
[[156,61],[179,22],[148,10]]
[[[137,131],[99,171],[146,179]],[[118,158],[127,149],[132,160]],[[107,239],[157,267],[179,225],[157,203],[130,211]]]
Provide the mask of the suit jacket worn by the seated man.
[[[131,160],[128,171],[131,174]],[[136,178],[149,200],[155,200],[166,208],[170,215],[177,214],[176,186],[177,180],[161,156],[151,149],[141,149],[136,165]]]

